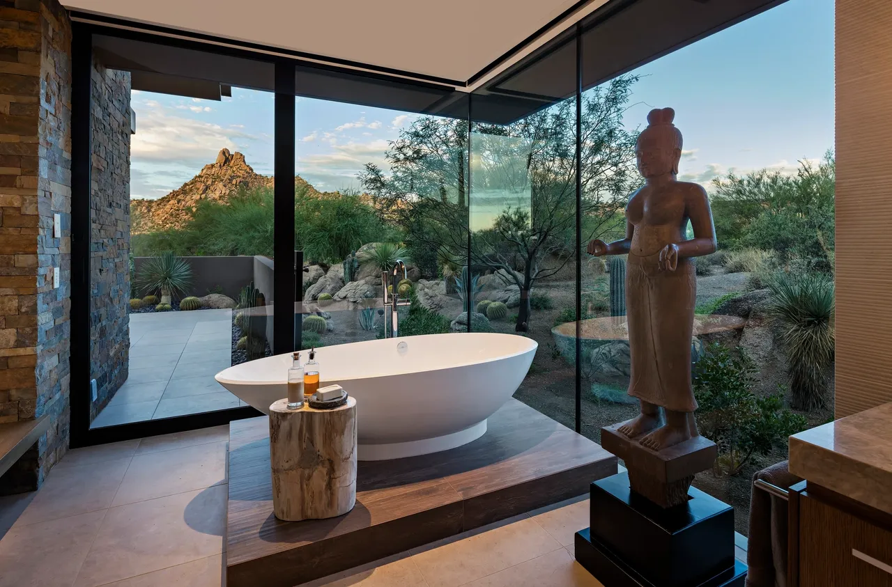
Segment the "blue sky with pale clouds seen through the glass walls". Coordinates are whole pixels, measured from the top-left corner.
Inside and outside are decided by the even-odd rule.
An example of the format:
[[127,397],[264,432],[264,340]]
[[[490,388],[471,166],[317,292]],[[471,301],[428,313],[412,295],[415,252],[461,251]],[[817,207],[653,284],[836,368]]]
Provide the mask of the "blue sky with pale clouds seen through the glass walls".
[[[800,159],[833,146],[833,0],[786,4],[634,73],[627,126],[650,108],[672,106],[684,135],[681,177],[708,183],[728,171],[772,167],[791,173]],[[133,198],[160,198],[213,162],[226,147],[272,175],[272,94],[233,88],[221,102],[134,92]],[[416,115],[299,98],[296,165],[318,190],[356,188],[371,161]]]

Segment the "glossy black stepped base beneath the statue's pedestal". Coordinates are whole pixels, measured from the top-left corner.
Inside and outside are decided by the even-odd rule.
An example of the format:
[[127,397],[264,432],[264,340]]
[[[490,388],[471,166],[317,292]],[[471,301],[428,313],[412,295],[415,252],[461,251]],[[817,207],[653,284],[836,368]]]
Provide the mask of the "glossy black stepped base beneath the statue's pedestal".
[[620,473],[591,484],[591,527],[576,534],[576,559],[605,587],[743,585],[734,559],[734,510],[691,487],[663,509]]

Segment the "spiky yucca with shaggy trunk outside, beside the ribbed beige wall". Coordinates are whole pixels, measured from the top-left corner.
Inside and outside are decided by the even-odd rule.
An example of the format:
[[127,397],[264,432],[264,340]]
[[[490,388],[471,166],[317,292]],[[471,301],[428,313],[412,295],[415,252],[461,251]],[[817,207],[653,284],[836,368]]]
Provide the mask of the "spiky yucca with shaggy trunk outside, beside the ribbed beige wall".
[[768,312],[787,355],[792,404],[800,410],[822,408],[835,349],[833,281],[822,273],[780,273],[769,288]]

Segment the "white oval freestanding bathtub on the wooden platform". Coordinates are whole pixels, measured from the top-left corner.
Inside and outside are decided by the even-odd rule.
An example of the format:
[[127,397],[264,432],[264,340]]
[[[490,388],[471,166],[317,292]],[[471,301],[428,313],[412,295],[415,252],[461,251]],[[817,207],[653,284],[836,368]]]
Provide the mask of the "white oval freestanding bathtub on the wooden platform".
[[[320,385],[357,401],[359,461],[445,451],[486,432],[486,419],[520,386],[538,343],[485,332],[383,338],[318,348]],[[301,356],[305,356],[305,353]],[[268,413],[287,395],[291,354],[220,371],[216,379]]]

